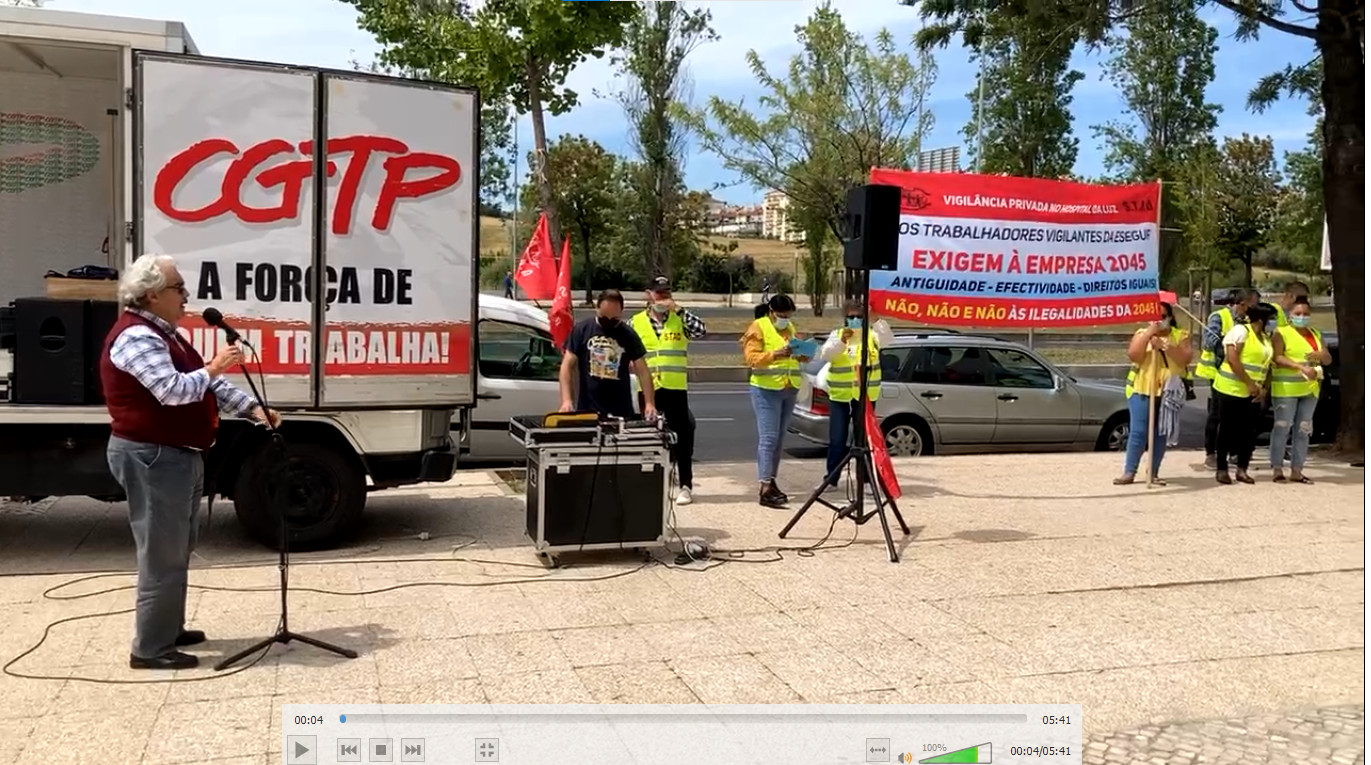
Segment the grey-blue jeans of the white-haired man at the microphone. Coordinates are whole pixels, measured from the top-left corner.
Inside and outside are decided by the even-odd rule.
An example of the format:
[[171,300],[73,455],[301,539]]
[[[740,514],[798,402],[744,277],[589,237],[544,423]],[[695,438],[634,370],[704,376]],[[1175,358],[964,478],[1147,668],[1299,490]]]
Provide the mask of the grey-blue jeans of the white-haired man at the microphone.
[[133,655],[158,658],[175,650],[185,628],[185,596],[204,459],[188,448],[110,436],[110,472],[129,498],[129,526],[138,561]]

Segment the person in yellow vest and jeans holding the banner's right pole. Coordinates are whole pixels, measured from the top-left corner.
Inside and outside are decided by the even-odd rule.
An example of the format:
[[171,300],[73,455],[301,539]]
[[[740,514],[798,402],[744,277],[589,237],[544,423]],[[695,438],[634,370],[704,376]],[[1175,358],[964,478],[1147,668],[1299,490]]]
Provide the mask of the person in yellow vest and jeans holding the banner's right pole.
[[[1152,476],[1161,472],[1161,458],[1167,454],[1167,433],[1161,429],[1161,395],[1172,377],[1185,378],[1194,348],[1190,333],[1176,328],[1176,318],[1168,303],[1161,304],[1161,321],[1139,329],[1128,341],[1128,382],[1123,395],[1128,400],[1128,444],[1124,447],[1123,474],[1115,485],[1131,484],[1138,476],[1142,452],[1148,450],[1148,421],[1152,418]],[[1156,411],[1148,411],[1149,403]],[[1165,485],[1156,478],[1153,483]]]

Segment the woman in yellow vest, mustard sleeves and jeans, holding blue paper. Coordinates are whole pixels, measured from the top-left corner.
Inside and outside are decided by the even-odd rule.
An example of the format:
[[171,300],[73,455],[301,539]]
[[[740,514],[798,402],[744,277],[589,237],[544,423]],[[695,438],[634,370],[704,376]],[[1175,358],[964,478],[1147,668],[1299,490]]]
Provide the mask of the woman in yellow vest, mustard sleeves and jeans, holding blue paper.
[[762,507],[783,509],[790,498],[776,485],[786,425],[799,392],[799,363],[809,361],[795,354],[791,341],[799,333],[791,324],[795,302],[790,295],[773,295],[766,302],[766,315],[754,321],[743,333],[743,359],[747,363],[753,413],[757,417],[757,502]]

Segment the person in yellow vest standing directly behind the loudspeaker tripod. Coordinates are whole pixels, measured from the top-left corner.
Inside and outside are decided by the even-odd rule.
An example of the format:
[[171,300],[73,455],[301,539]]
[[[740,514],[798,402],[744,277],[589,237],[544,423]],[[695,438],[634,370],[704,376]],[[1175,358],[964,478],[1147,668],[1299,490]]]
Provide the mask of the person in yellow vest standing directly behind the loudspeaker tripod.
[[[847,455],[851,446],[851,425],[854,417],[864,413],[857,407],[861,382],[861,315],[862,303],[850,299],[843,304],[843,325],[829,333],[828,340],[818,351],[818,358],[827,366],[817,376],[817,382],[828,391],[828,470],[825,476],[832,476],[838,463]],[[871,325],[871,343],[866,350],[866,396],[872,403],[880,399],[880,348],[891,341],[894,335],[884,321],[875,321]],[[828,483],[828,488],[836,487],[838,480]]]

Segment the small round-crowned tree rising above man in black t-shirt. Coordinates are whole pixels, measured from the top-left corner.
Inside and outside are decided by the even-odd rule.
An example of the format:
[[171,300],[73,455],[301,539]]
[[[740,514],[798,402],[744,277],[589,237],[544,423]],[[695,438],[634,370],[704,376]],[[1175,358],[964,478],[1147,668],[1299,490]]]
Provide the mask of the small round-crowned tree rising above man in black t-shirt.
[[[605,147],[585,136],[562,136],[547,148],[547,173],[557,178],[553,204],[572,240],[572,262],[579,263],[585,302],[595,289],[595,245],[610,234],[614,207],[622,197],[617,188],[618,160]],[[535,207],[540,197],[537,178],[529,171],[520,192],[525,206]],[[561,252],[562,243],[553,240]]]

